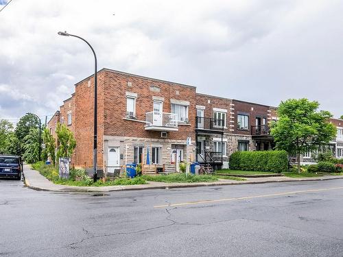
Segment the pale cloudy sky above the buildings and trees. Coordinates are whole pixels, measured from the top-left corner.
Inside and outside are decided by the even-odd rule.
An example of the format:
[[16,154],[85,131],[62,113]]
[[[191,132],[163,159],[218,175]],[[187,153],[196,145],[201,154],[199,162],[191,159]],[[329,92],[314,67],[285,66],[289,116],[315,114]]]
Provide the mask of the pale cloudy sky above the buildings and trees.
[[[0,9],[7,3],[0,0]],[[12,0],[0,12],[0,119],[51,117],[104,67],[278,106],[343,114],[343,1]]]

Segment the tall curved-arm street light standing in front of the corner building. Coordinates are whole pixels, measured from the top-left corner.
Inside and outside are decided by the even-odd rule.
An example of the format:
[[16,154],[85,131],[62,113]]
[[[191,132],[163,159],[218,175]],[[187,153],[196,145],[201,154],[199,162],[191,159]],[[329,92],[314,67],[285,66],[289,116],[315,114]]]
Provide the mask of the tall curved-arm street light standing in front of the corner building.
[[73,36],[75,38],[80,38],[82,41],[86,42],[88,47],[91,47],[94,54],[95,69],[94,69],[94,143],[93,143],[93,180],[97,181],[97,56],[91,44],[80,36],[75,36],[67,32],[58,32],[60,36]]

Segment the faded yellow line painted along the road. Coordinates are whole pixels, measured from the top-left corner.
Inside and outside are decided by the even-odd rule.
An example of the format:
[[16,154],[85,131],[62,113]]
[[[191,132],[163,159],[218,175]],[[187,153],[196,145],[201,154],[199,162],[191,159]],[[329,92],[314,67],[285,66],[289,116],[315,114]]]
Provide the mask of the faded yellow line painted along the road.
[[163,205],[158,205],[158,206],[154,206],[154,208],[166,208],[166,207],[172,207],[172,206],[185,206],[185,205],[191,205],[191,204],[209,204],[209,203],[217,203],[217,202],[220,202],[220,201],[244,200],[244,199],[271,197],[271,196],[279,196],[279,195],[292,195],[292,194],[297,194],[297,193],[310,193],[310,192],[330,191],[330,190],[337,190],[337,189],[343,189],[343,186],[332,187],[332,188],[322,188],[322,189],[309,189],[309,190],[303,190],[303,191],[291,191],[291,192],[285,192],[285,193],[274,193],[274,194],[270,194],[270,195],[252,195],[252,196],[246,196],[246,197],[233,197],[233,198],[224,198],[224,199],[215,199],[215,200],[187,201],[185,203],[179,203],[179,204],[163,204]]

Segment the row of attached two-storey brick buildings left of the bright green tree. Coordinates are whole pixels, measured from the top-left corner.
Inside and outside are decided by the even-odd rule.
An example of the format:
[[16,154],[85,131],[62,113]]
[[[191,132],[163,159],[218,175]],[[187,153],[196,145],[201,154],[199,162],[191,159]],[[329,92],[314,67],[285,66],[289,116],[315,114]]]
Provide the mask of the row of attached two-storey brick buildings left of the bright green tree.
[[[276,108],[196,93],[196,87],[102,69],[97,89],[97,163],[113,172],[130,162],[195,161],[228,167],[233,151],[272,149]],[[73,132],[75,167],[93,165],[93,75],[75,84],[48,123]],[[187,138],[191,145],[187,146]]]

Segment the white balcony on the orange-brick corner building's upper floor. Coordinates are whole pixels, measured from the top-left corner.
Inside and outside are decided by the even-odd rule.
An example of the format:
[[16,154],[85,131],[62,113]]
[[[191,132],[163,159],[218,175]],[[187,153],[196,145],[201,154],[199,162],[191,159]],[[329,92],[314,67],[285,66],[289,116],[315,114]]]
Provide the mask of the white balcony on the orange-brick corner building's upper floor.
[[146,112],[145,117],[145,130],[178,131],[178,114]]

